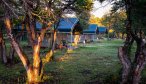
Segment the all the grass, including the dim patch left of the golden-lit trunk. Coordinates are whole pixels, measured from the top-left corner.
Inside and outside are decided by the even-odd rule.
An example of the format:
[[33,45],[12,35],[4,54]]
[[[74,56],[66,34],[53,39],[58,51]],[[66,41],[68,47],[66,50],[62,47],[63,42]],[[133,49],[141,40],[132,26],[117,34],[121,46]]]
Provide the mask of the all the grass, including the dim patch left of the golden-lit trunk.
[[[120,63],[117,49],[122,40],[101,40],[79,45],[71,53],[56,50],[54,61],[45,66],[44,79],[51,84],[114,84],[119,80]],[[27,52],[27,51],[26,51]],[[0,78],[21,76],[25,70],[21,63],[11,67],[0,64]]]

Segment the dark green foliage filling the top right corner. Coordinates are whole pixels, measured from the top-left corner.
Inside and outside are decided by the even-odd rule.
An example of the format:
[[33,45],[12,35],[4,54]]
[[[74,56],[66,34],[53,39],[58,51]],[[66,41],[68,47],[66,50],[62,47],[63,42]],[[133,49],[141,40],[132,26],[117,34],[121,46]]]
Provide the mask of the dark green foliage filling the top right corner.
[[131,19],[132,19],[132,29],[136,34],[139,36],[138,33],[141,31],[146,35],[146,1],[145,0],[138,0],[133,1],[133,8],[131,13]]

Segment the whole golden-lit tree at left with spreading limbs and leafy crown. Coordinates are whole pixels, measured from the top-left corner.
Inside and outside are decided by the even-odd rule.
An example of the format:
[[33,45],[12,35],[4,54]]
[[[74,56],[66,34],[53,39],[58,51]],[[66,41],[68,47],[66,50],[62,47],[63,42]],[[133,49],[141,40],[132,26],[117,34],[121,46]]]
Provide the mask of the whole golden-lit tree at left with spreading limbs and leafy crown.
[[[65,9],[76,9],[77,7],[81,7],[87,9],[85,5],[90,0],[84,0],[83,2],[77,0],[20,0],[9,2],[8,0],[0,1],[1,5],[5,9],[4,11],[4,24],[6,26],[7,35],[11,40],[11,44],[18,54],[22,64],[27,72],[27,81],[28,83],[39,83],[43,76],[43,67],[47,62],[51,61],[51,57],[53,56],[54,50],[54,42],[52,45],[52,49],[48,50],[46,55],[41,59],[40,57],[40,49],[41,43],[44,39],[44,35],[48,29],[52,28],[52,25],[57,23],[58,19],[61,18]],[[18,3],[18,4],[17,4]],[[83,3],[83,4],[81,4]],[[15,11],[15,7],[17,11]],[[22,12],[22,13],[21,13]],[[21,13],[25,18],[22,24],[26,25],[26,30],[29,36],[29,41],[32,45],[33,49],[33,62],[31,63],[27,57],[27,54],[24,53],[23,49],[20,47],[19,43],[16,41],[15,37],[12,34],[12,18],[19,17],[17,13]],[[14,17],[15,16],[15,17]],[[43,23],[43,28],[40,33],[36,33],[35,31],[35,21],[39,20]],[[53,41],[56,39],[56,28],[54,29],[54,37]]]

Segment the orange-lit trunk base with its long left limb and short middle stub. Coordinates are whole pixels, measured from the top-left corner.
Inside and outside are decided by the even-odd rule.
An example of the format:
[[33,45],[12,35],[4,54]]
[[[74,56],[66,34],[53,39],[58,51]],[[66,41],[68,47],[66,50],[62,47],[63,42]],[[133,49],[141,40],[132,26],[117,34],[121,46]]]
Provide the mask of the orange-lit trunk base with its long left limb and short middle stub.
[[13,46],[13,48],[15,49],[16,53],[18,54],[20,60],[22,61],[23,63],[23,66],[24,68],[26,69],[26,72],[27,72],[27,80],[28,80],[28,83],[29,84],[35,84],[38,82],[38,76],[37,76],[37,69],[38,66],[36,64],[38,64],[37,62],[37,54],[38,53],[38,50],[39,50],[39,47],[36,47],[35,50],[34,50],[34,54],[36,54],[36,56],[34,57],[34,66],[30,64],[27,56],[24,54],[24,52],[22,51],[22,49],[20,48],[19,44],[17,43],[17,41],[15,40],[15,38],[13,37],[12,35],[12,29],[11,29],[11,24],[10,24],[10,19],[9,17],[6,17],[5,20],[5,25],[6,25],[6,30],[7,30],[7,34],[9,36],[9,39],[10,39],[10,42]]

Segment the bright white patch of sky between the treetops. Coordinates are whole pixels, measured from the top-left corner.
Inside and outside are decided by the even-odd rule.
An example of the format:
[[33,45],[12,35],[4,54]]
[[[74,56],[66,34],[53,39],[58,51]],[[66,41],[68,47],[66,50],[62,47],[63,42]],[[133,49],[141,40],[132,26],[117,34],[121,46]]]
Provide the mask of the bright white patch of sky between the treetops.
[[112,5],[110,2],[103,2],[101,4],[100,2],[95,1],[91,14],[101,18],[104,14],[108,13],[111,10],[111,7]]

